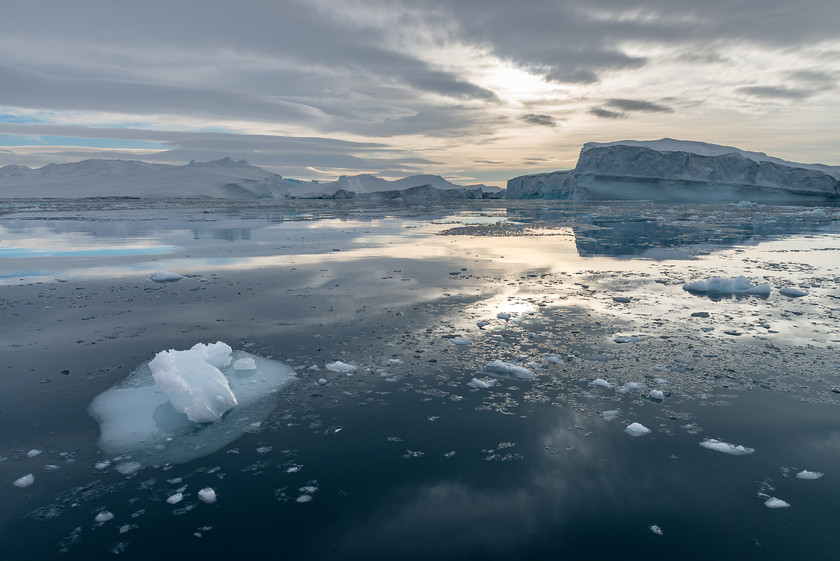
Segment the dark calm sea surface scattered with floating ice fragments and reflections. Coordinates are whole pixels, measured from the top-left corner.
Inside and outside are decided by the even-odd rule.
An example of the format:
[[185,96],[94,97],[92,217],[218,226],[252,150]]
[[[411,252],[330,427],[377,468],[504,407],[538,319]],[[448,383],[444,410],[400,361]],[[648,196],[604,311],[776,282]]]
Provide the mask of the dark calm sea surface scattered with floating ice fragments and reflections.
[[834,555],[836,207],[0,212],[4,559]]

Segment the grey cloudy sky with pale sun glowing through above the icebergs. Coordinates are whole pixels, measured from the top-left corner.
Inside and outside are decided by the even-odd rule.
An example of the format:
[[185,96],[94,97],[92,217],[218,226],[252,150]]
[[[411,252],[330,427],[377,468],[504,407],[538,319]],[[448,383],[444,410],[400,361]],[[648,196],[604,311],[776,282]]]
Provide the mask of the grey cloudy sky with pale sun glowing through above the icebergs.
[[664,137],[840,165],[837,0],[4,0],[0,166],[504,186]]

